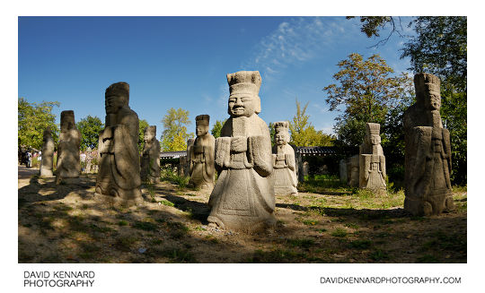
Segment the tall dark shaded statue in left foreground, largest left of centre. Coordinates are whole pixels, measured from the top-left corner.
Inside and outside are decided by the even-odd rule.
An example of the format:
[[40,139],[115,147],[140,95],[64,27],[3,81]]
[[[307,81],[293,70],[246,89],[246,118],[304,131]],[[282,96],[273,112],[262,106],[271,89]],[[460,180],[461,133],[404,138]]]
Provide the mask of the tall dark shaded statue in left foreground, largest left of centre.
[[129,85],[113,83],[105,92],[106,123],[100,132],[96,193],[106,199],[141,202],[138,116],[128,106]]

